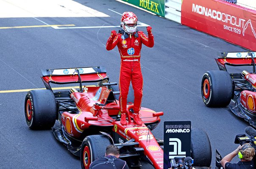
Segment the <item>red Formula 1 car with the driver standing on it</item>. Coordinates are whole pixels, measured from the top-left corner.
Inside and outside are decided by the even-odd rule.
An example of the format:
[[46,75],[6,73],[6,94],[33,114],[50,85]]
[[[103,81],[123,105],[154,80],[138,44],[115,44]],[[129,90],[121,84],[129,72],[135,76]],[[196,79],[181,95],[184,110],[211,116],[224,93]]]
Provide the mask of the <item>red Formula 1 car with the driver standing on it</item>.
[[[130,168],[163,168],[163,140],[156,139],[151,132],[159,124],[159,116],[163,112],[142,107],[139,116],[143,124],[136,125],[132,119],[133,100],[128,100],[128,124],[121,125],[120,93],[117,83],[109,82],[105,68],[46,69],[42,70],[41,78],[47,90],[31,90],[27,93],[26,122],[31,129],[52,128],[56,139],[64,143],[74,155],[80,156],[82,169],[89,169],[92,161],[103,157],[110,144],[120,149],[119,158],[125,160]],[[79,83],[79,90],[70,87],[70,90],[53,93],[50,83]],[[97,85],[82,87],[82,83]],[[198,161],[196,165],[209,166],[211,147],[200,152],[198,147],[203,141],[196,136],[195,141],[192,141],[195,142],[192,144],[192,158],[202,155],[210,157],[206,161],[195,158]],[[205,152],[208,154],[205,155]]]

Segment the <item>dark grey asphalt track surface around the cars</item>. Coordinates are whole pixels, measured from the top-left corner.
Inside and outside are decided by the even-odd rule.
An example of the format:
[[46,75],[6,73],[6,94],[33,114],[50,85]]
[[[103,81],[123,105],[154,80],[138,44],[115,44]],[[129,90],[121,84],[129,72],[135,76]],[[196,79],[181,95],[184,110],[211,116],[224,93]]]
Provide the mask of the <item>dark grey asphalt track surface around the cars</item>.
[[[212,166],[215,149],[222,156],[237,148],[234,138],[248,126],[228,108],[203,104],[200,83],[205,71],[217,70],[220,52],[245,51],[219,38],[190,29],[115,0],[76,0],[109,17],[12,17],[0,18],[1,27],[29,25],[103,26],[80,29],[25,27],[0,29],[0,90],[44,88],[41,69],[102,65],[111,82],[118,82],[120,55],[106,51],[111,30],[118,30],[120,14],[133,11],[139,21],[152,26],[153,48],[142,47],[144,78],[142,106],[164,116],[153,131],[163,139],[164,121],[189,120],[192,128],[207,132],[211,141]],[[118,14],[119,13],[119,14]],[[39,21],[40,20],[40,21]],[[42,23],[45,22],[46,24]],[[146,27],[139,27],[146,32]],[[239,68],[234,69],[240,72]],[[1,169],[80,169],[79,158],[60,144],[51,130],[33,131],[25,122],[26,92],[0,93]],[[234,159],[234,162],[238,158]]]

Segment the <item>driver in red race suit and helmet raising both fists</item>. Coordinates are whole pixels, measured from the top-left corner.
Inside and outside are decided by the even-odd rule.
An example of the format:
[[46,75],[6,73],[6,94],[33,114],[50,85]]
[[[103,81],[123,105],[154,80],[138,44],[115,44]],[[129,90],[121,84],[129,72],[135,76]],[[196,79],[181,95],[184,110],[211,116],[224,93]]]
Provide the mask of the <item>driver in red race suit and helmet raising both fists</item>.
[[126,104],[130,82],[134,89],[134,122],[142,125],[139,118],[139,110],[142,102],[143,78],[140,67],[140,51],[142,44],[147,47],[154,46],[154,37],[152,28],[147,27],[147,35],[137,29],[138,18],[133,12],[124,12],[121,18],[122,30],[117,33],[111,31],[111,35],[107,41],[106,49],[112,50],[118,47],[121,55],[119,90],[120,90],[120,112],[122,125],[126,125]]

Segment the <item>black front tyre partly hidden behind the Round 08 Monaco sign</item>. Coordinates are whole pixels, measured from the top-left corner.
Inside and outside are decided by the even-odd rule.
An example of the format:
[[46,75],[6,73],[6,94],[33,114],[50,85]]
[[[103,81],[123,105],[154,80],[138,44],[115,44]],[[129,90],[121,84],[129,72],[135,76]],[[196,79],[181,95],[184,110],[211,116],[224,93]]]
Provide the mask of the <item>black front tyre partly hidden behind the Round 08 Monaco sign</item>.
[[191,129],[191,157],[194,166],[211,166],[211,143],[205,131],[198,128]]

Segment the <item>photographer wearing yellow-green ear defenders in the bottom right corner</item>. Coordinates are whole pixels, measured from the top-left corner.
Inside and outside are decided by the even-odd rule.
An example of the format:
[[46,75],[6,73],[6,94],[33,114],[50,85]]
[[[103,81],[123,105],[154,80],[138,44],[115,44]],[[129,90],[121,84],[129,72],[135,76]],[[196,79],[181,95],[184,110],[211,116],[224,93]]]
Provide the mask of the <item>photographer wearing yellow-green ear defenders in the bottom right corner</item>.
[[[230,161],[235,157],[241,159],[237,164],[232,164]],[[255,155],[255,149],[249,144],[239,145],[236,150],[226,155],[221,161],[221,165],[224,169],[253,169],[253,156]]]

